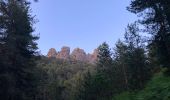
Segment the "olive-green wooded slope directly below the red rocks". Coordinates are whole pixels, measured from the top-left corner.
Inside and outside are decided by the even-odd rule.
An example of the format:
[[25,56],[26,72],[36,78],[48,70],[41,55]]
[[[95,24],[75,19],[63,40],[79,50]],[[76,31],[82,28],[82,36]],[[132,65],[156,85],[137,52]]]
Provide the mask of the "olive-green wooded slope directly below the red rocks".
[[65,61],[56,58],[41,57],[37,62],[41,69],[38,100],[76,100],[86,70],[93,71],[94,65]]

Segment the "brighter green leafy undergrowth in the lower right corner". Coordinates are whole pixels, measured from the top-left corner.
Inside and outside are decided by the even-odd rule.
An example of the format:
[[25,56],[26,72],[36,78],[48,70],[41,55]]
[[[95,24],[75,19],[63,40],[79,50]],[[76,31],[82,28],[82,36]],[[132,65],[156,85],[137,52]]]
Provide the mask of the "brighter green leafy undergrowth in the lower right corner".
[[170,77],[163,72],[156,74],[146,87],[138,92],[124,92],[113,100],[169,100]]

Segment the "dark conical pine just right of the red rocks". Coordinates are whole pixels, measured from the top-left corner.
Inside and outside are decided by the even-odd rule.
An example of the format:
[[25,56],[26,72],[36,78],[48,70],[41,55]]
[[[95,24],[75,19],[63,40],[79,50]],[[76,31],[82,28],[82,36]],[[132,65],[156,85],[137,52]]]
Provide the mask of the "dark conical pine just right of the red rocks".
[[101,100],[110,99],[115,92],[115,87],[117,85],[115,82],[116,76],[115,68],[113,66],[112,53],[106,42],[98,47],[98,61],[96,66],[96,82],[99,85],[98,88],[100,88],[99,98],[101,98]]

